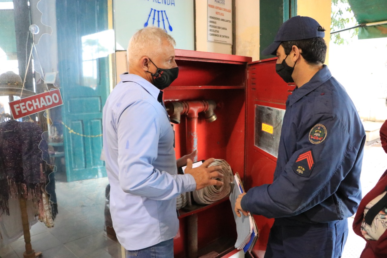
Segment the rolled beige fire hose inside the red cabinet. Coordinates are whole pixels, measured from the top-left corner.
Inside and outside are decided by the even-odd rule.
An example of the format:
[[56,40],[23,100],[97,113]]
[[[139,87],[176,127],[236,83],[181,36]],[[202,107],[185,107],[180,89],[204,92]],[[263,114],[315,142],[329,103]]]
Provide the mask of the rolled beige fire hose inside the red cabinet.
[[[234,180],[233,171],[231,170],[230,165],[226,162],[226,160],[216,159],[212,162],[211,166],[221,166],[222,169],[219,170],[220,173],[224,175],[223,178],[218,178],[217,180],[223,182],[222,186],[207,186],[200,190],[195,190],[192,192],[192,196],[197,204],[200,205],[208,205],[214,203],[215,201],[219,201],[226,196],[229,196],[231,192],[230,183]],[[177,197],[177,205],[176,208],[180,209],[187,205],[188,198],[190,192],[182,193]]]

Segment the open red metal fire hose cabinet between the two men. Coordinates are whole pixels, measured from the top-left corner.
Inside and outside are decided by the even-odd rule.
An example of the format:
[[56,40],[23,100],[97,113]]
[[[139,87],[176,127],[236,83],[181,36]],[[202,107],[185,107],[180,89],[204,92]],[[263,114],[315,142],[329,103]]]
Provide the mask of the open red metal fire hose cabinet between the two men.
[[[226,160],[245,190],[271,183],[285,102],[295,86],[277,76],[276,58],[176,49],[178,78],[164,89],[174,124],[176,158],[198,150],[198,160]],[[117,64],[119,65],[119,64]],[[173,115],[171,115],[173,114]],[[176,258],[229,257],[236,253],[236,225],[228,197],[179,210]],[[263,257],[274,220],[254,215],[259,239],[252,256]]]

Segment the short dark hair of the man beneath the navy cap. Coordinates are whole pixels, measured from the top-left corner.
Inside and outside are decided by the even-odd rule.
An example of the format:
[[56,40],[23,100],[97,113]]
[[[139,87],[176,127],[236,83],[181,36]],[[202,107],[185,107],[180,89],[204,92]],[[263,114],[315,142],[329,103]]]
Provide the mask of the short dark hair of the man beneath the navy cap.
[[[318,31],[325,31],[324,28],[319,26]],[[325,62],[325,56],[327,54],[327,44],[324,38],[308,38],[306,40],[291,40],[281,42],[285,50],[285,54],[289,55],[293,45],[301,48],[301,55],[308,64],[322,64]]]

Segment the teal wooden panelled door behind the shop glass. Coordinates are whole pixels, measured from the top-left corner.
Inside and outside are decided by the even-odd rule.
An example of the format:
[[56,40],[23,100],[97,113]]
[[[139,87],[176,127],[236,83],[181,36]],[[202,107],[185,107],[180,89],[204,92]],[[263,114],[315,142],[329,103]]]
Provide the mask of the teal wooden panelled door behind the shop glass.
[[67,181],[106,176],[101,120],[110,89],[108,53],[114,51],[107,5],[108,0],[56,1]]

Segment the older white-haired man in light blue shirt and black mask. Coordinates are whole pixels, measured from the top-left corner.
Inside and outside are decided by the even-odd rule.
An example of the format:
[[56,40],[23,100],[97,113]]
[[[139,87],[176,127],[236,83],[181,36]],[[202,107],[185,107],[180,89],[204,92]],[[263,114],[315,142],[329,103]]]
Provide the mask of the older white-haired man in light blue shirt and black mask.
[[[173,257],[178,231],[176,196],[221,185],[213,158],[192,168],[196,153],[177,160],[174,133],[162,89],[178,76],[175,40],[161,28],[146,27],[129,41],[129,73],[103,109],[103,149],[110,183],[110,212],[126,257]],[[188,159],[187,159],[188,158]],[[177,167],[187,163],[184,175]]]

